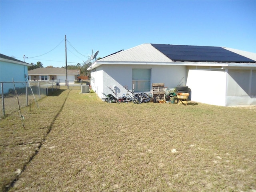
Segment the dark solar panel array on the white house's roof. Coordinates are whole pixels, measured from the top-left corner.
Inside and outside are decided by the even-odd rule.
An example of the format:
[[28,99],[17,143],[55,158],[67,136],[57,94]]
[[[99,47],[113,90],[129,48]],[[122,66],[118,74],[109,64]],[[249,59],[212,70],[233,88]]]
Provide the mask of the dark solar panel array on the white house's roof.
[[173,61],[255,63],[222,47],[151,44]]

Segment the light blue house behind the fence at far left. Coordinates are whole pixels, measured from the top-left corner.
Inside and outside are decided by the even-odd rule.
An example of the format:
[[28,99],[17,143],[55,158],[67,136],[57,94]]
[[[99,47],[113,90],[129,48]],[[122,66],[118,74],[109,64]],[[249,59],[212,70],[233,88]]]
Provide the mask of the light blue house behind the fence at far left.
[[[18,59],[0,54],[0,82],[27,82],[28,81],[28,66],[32,66],[26,62]],[[20,86],[16,84],[17,88]],[[4,83],[4,93],[10,88],[13,88],[13,84]],[[2,89],[0,90],[2,94]]]

